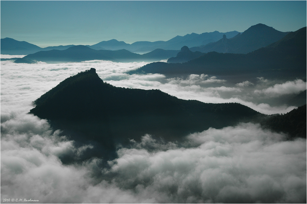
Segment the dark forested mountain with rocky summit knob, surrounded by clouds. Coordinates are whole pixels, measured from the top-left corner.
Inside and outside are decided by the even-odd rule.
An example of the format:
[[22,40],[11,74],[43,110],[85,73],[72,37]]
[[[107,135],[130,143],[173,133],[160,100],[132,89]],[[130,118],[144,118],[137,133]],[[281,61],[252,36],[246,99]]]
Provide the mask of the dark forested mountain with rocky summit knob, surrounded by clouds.
[[212,104],[182,100],[160,90],[114,87],[95,69],[69,77],[35,101],[30,113],[48,119],[55,129],[107,152],[115,144],[140,140],[144,134],[180,140],[209,127],[222,128],[261,115],[238,103]]

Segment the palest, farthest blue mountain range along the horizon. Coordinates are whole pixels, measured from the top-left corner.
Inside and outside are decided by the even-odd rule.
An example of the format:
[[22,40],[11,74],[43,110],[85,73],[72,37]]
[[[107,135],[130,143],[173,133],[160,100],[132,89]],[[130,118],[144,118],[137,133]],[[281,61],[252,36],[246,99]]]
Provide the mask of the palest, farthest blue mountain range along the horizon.
[[[138,41],[132,44],[127,44],[123,41],[118,40],[108,40],[102,41],[94,45],[86,45],[89,48],[94,50],[120,50],[126,49],[129,51],[135,52],[150,52],[155,49],[164,49],[164,50],[180,50],[183,46],[194,47],[200,46],[204,44],[208,44],[209,42],[215,42],[219,40],[224,34],[229,37],[233,37],[237,35],[239,32],[232,31],[227,33],[220,33],[218,31],[214,31],[211,33],[202,33],[202,34],[187,34],[185,36],[176,36],[168,41]],[[1,39],[1,54],[7,55],[28,55],[33,54],[39,51],[48,51],[48,50],[65,50],[75,45],[65,45],[65,46],[51,46],[46,48],[38,47],[37,45],[25,42],[18,41],[12,38],[2,38]]]

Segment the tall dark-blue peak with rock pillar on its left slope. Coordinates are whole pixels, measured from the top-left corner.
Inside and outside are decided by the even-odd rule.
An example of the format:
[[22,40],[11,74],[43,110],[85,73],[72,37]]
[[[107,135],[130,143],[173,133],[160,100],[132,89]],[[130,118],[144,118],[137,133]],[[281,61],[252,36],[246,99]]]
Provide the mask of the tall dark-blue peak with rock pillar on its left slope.
[[251,26],[242,34],[239,33],[232,38],[228,37],[230,39],[227,39],[227,35],[223,35],[223,38],[217,42],[190,48],[190,50],[204,53],[221,52],[247,54],[282,39],[288,33],[289,32],[280,32],[272,27],[259,23]]

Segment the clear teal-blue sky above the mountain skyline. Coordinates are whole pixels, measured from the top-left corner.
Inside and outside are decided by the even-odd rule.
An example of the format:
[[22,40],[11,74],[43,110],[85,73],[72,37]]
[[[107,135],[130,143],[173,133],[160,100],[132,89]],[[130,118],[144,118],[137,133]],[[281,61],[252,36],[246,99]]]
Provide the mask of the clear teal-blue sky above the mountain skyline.
[[1,38],[40,47],[306,26],[306,1],[1,1]]

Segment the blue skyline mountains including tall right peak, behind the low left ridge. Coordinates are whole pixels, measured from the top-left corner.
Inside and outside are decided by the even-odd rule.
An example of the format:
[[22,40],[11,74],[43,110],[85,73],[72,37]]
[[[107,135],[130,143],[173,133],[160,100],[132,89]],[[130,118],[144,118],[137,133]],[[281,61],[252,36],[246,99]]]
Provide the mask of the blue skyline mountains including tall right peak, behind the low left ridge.
[[[94,45],[87,45],[95,50],[121,50],[131,52],[150,52],[155,49],[180,50],[183,46],[190,48],[192,52],[223,52],[223,53],[248,53],[258,48],[265,47],[284,37],[287,32],[280,32],[264,24],[251,26],[243,33],[231,31],[220,33],[191,33],[185,36],[176,36],[167,41],[137,41],[132,44],[116,39],[101,41]],[[38,51],[65,50],[74,45],[52,46],[40,48],[25,41],[17,41],[11,38],[1,39],[1,54],[27,55]]]

